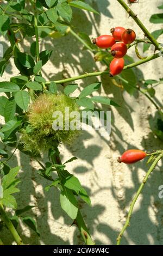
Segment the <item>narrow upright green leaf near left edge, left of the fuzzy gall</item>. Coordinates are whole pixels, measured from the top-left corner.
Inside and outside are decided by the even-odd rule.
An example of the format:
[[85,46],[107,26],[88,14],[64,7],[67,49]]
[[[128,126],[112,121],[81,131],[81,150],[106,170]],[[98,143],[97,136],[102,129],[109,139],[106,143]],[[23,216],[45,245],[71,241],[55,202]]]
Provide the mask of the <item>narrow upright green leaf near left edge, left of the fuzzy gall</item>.
[[12,120],[15,117],[16,102],[13,97],[11,97],[5,104],[4,108],[4,119],[5,122]]

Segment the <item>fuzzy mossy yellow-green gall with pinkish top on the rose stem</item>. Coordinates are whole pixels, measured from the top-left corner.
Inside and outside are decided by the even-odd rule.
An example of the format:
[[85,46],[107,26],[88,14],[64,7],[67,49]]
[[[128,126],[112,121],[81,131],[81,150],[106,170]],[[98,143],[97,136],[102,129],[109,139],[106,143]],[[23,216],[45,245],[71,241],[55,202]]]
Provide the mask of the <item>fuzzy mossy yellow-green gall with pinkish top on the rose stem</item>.
[[[22,131],[24,149],[28,151],[45,151],[56,147],[59,143],[71,143],[78,130],[65,130],[65,123],[72,118],[65,114],[65,108],[79,112],[76,101],[64,94],[41,94],[30,105],[27,113],[28,126]],[[53,113],[62,113],[63,129],[53,130]],[[58,116],[60,118],[60,115]],[[67,120],[67,118],[69,120]]]

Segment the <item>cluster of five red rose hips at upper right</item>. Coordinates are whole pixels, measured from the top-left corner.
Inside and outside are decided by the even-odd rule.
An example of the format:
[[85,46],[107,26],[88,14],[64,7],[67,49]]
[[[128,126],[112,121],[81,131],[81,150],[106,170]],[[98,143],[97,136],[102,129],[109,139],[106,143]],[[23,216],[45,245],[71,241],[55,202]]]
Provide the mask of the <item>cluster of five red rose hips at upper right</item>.
[[[127,53],[127,45],[135,41],[135,32],[128,28],[116,27],[110,30],[112,35],[101,35],[98,38],[93,39],[93,44],[96,44],[99,48],[110,48],[110,53],[114,59],[110,63],[110,76],[118,75],[124,68],[123,57]],[[117,42],[118,41],[118,42]]]

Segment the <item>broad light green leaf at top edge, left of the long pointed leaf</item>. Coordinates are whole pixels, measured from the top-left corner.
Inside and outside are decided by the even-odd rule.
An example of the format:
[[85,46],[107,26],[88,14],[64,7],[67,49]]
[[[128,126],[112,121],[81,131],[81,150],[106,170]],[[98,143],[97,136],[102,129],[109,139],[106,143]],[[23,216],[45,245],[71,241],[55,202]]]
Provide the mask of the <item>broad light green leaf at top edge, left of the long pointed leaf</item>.
[[57,10],[59,15],[67,22],[72,20],[72,9],[67,3],[58,3]]

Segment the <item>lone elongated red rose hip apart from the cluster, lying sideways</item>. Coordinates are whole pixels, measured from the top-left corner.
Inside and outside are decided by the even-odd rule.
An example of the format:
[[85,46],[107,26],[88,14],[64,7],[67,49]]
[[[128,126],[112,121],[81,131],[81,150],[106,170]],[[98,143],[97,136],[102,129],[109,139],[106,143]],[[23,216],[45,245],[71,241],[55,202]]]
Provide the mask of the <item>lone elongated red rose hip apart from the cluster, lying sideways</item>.
[[127,163],[127,164],[135,163],[135,162],[142,160],[146,156],[147,156],[147,154],[142,150],[130,149],[130,150],[125,151],[121,157],[118,157],[117,161],[119,163]]

